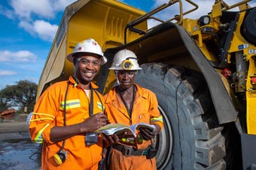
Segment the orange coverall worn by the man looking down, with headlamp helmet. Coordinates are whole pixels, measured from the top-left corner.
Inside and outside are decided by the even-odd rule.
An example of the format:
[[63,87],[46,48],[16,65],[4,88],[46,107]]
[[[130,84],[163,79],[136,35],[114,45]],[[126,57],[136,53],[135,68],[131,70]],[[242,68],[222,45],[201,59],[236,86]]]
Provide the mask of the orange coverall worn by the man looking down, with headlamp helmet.
[[[139,85],[136,85],[136,97],[133,103],[133,111],[130,115],[126,111],[126,107],[120,99],[114,87],[105,94],[105,114],[108,117],[110,123],[126,124],[128,126],[139,122],[147,124],[158,124],[161,129],[163,128],[163,118],[160,115],[155,94]],[[145,149],[151,145],[150,141],[143,141],[142,144],[138,144],[138,149]],[[130,156],[126,157],[120,151],[115,149],[111,150],[109,169],[147,169],[156,170],[156,160],[147,159],[146,156]]]

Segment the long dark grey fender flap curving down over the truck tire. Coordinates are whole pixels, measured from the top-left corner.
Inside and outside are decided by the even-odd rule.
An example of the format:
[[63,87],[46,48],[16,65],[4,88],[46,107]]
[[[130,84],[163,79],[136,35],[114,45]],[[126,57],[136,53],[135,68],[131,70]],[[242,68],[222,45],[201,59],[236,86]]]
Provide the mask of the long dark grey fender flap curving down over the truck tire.
[[203,55],[203,52],[200,51],[196,43],[194,43],[194,40],[190,37],[187,31],[179,25],[175,25],[175,27],[181,36],[184,46],[186,46],[187,51],[190,53],[191,57],[194,59],[195,63],[200,68],[200,71],[203,73],[203,76],[206,79],[219,123],[225,124],[236,121],[236,109],[233,106],[229,94],[224,88],[221,77],[214,70],[207,58]]

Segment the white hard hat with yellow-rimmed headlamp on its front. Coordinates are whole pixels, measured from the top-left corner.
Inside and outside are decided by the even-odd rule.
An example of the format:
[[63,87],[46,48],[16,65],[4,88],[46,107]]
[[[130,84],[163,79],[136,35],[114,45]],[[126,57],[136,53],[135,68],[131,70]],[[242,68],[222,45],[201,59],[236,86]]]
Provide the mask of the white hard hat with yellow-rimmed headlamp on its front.
[[142,70],[137,56],[129,49],[122,49],[114,55],[114,61],[109,70]]

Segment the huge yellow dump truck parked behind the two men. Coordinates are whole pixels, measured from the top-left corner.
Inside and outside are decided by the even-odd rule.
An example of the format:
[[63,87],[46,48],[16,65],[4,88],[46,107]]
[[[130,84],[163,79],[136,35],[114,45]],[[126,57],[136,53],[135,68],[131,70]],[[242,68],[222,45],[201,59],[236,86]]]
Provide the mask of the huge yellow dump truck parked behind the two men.
[[[108,70],[114,54],[130,49],[142,67],[136,83],[157,95],[163,115],[157,169],[256,169],[256,8],[249,1],[212,0],[197,19],[187,17],[199,7],[192,0],[147,13],[115,0],[75,1],[63,13],[37,98],[74,74],[66,55],[81,40],[92,37],[108,58],[94,80],[102,94],[117,85]],[[166,11],[177,13],[157,17]]]

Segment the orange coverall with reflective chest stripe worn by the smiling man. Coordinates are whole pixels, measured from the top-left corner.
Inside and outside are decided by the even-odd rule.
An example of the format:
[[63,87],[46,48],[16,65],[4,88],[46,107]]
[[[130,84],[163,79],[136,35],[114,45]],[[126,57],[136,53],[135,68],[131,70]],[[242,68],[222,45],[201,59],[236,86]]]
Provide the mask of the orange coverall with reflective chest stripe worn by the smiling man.
[[[64,98],[68,81],[57,82],[51,85],[35,104],[32,119],[29,124],[29,133],[33,142],[42,143],[42,170],[53,169],[98,169],[102,160],[102,138],[99,136],[98,144],[87,146],[84,142],[85,134],[66,139],[64,151],[67,158],[64,163],[57,166],[53,158],[62,147],[62,142],[50,141],[50,130],[54,126],[64,126]],[[90,82],[92,88],[98,88]],[[99,94],[99,93],[98,93]],[[100,100],[99,100],[100,97]],[[93,90],[93,114],[102,112],[103,97],[96,95]],[[89,97],[90,98],[90,97]],[[87,95],[75,80],[69,78],[69,91],[66,98],[66,125],[78,124],[89,118],[89,100]]]

